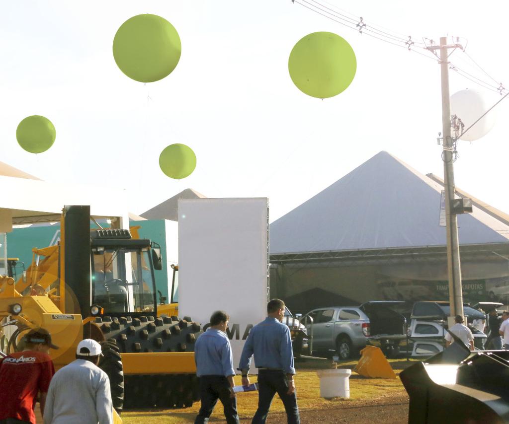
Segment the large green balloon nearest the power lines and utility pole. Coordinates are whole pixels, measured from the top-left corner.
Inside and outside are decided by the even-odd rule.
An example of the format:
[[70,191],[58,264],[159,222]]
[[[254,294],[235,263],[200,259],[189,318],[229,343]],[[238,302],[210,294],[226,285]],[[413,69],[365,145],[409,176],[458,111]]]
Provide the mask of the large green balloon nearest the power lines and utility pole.
[[343,92],[357,70],[355,53],[342,37],[313,33],[297,42],[288,60],[290,77],[303,93],[325,99]]

